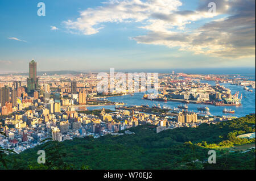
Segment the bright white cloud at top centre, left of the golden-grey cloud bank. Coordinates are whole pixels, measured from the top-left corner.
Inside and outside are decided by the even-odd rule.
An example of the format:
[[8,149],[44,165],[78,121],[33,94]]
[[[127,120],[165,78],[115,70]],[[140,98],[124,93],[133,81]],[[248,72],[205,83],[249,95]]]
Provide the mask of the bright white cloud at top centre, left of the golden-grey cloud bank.
[[182,3],[179,0],[125,0],[104,2],[105,6],[86,9],[76,20],[64,21],[64,25],[84,35],[93,35],[103,28],[102,23],[144,22],[154,13],[170,14]]

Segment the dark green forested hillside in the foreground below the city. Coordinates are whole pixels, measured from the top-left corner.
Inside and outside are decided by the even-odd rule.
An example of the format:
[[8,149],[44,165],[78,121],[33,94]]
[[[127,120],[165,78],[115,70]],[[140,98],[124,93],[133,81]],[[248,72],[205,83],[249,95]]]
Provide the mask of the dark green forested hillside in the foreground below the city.
[[[255,132],[255,115],[158,134],[152,125],[130,131],[135,134],[48,141],[9,155],[7,169],[255,169],[255,138],[237,138]],[[230,151],[241,145],[250,148],[249,144],[254,149]],[[41,149],[46,150],[46,164],[39,165],[37,151]],[[216,150],[215,164],[207,161],[211,149]]]

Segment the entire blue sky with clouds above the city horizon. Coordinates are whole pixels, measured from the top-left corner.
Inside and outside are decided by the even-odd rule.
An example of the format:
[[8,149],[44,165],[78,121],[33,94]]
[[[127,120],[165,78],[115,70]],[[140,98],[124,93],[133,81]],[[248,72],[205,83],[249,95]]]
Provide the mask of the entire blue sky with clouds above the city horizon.
[[0,22],[1,73],[255,68],[255,0],[9,0]]

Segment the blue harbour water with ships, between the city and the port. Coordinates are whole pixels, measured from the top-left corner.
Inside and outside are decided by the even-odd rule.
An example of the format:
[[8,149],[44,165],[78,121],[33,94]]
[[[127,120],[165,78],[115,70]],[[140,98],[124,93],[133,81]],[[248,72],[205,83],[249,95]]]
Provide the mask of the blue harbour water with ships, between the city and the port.
[[[204,83],[208,83],[209,85],[215,85],[214,81],[200,81]],[[237,86],[237,85],[230,85],[229,83],[220,83],[221,86],[224,86],[231,90],[232,95],[236,94],[236,92],[239,91],[239,96],[242,94],[242,106],[212,106],[212,105],[205,105],[205,104],[187,104],[188,111],[193,112],[199,112],[197,108],[199,107],[209,107],[210,113],[214,116],[236,116],[236,117],[242,117],[249,115],[250,113],[255,113],[255,89],[252,89],[253,92],[243,90],[243,86]],[[152,106],[158,106],[158,104],[163,107],[169,107],[169,108],[177,108],[177,106],[184,104],[181,102],[161,102],[161,101],[155,101],[155,100],[145,100],[142,99],[144,95],[144,92],[137,92],[133,96],[131,95],[123,95],[123,96],[113,96],[106,98],[112,102],[123,102],[126,105],[125,106],[140,106],[140,105],[148,105],[150,107]],[[87,107],[88,110],[99,110],[102,108],[109,109],[109,110],[115,110],[115,106],[95,106],[95,107]],[[224,108],[227,109],[233,109],[235,110],[235,113],[224,113]]]

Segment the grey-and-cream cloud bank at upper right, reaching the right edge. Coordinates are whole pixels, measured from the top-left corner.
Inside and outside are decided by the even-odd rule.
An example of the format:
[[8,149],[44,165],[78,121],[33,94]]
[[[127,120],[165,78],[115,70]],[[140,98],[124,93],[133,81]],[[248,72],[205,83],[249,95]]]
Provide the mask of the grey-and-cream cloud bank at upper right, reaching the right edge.
[[165,23],[170,19],[162,16],[162,28],[158,27],[159,20],[156,20],[158,24],[142,27],[150,32],[133,39],[137,43],[179,47],[180,50],[213,57],[255,57],[255,1],[232,1],[228,7],[229,9],[222,9],[223,12],[228,12],[228,16],[212,20],[192,31],[170,30]]

